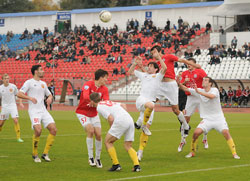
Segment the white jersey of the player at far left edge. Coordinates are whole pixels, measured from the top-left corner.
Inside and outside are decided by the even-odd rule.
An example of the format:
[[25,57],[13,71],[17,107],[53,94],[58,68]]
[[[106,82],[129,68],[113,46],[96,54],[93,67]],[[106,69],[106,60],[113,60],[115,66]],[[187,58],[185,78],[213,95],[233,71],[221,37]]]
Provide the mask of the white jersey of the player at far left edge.
[[2,107],[16,106],[17,87],[9,83],[7,87],[2,84],[0,86],[0,97],[2,99]]

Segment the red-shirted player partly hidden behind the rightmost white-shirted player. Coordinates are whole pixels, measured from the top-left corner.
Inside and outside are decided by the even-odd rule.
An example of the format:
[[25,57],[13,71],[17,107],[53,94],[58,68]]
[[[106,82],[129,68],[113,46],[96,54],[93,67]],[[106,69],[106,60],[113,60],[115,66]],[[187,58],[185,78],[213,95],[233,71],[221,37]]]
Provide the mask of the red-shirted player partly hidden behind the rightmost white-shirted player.
[[[188,60],[196,64],[196,60],[194,58],[189,58]],[[192,65],[188,65],[188,70],[182,73],[181,83],[188,88],[194,88],[195,86],[197,88],[202,88],[202,81],[203,78],[206,76],[207,74],[203,69],[196,69]],[[189,123],[190,117],[194,114],[197,108],[199,109],[200,101],[196,96],[191,95],[190,92],[185,92],[185,93],[187,95],[187,103],[185,106],[184,115],[187,123]],[[181,129],[183,129],[183,126]],[[207,149],[208,148],[207,134],[204,134],[202,142],[204,144],[204,148]],[[186,139],[184,135],[182,135],[181,143],[178,147],[178,152],[182,151],[185,144],[186,144]]]

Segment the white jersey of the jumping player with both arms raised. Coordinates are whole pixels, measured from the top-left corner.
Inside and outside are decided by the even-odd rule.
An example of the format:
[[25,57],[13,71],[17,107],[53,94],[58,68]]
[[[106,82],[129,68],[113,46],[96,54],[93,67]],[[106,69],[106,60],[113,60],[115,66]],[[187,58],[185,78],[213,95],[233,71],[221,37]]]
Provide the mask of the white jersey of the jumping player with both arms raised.
[[135,70],[135,76],[141,80],[141,92],[140,96],[150,99],[151,101],[156,100],[157,90],[160,87],[160,83],[164,77],[164,74],[148,74]]

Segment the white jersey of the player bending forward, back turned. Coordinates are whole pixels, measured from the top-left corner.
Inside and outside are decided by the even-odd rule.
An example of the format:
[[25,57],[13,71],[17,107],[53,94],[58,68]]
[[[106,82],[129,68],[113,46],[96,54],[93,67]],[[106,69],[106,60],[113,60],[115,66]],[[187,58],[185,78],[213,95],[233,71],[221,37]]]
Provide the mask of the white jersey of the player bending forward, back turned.
[[114,121],[120,120],[121,117],[130,117],[130,114],[121,107],[120,103],[109,100],[99,102],[96,109],[105,119],[108,119],[110,115],[114,117]]

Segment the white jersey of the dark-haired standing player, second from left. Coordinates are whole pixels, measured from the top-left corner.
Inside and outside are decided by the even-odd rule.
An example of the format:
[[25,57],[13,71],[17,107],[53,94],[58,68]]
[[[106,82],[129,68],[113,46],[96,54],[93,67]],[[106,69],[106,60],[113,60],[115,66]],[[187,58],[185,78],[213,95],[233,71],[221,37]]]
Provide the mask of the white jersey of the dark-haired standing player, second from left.
[[36,104],[33,104],[30,100],[28,101],[29,112],[43,112],[46,110],[44,105],[44,97],[45,95],[49,96],[51,93],[44,81],[29,79],[23,84],[23,87],[20,89],[20,91],[27,93],[28,96],[37,100]]

